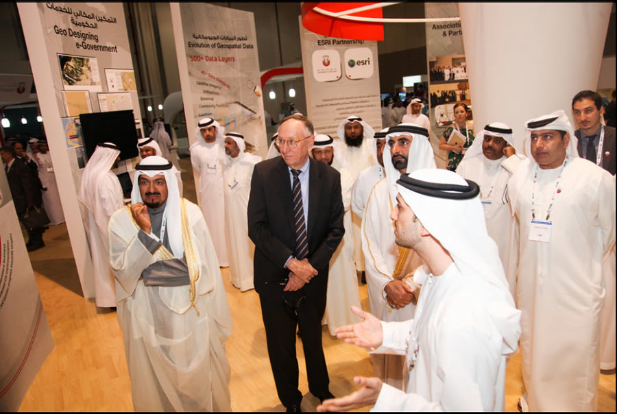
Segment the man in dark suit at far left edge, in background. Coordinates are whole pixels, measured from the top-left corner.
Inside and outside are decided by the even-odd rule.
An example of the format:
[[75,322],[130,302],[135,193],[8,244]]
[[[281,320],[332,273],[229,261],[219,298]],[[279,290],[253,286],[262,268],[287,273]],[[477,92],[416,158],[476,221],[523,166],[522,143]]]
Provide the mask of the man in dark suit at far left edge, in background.
[[[21,217],[29,208],[40,208],[43,199],[34,175],[23,160],[16,156],[12,147],[0,148],[0,156],[5,165],[6,178],[9,183],[17,217]],[[26,247],[28,252],[44,247],[43,228],[28,230]]]

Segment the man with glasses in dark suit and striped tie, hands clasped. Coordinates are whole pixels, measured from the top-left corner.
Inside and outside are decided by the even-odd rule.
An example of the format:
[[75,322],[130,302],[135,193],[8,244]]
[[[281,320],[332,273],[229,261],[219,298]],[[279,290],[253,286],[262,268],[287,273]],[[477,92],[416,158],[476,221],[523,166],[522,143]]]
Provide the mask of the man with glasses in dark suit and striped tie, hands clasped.
[[[288,412],[300,411],[302,402],[296,325],[302,337],[309,390],[319,400],[333,397],[328,388],[321,324],[330,258],[345,232],[343,201],[339,173],[309,158],[314,134],[311,121],[300,114],[282,120],[276,141],[281,156],[255,166],[247,208],[249,237],[255,244],[254,284],[270,365],[278,398]],[[294,179],[297,171],[302,172]],[[300,210],[294,212],[292,205],[295,180],[300,180],[302,188],[308,254],[296,249],[302,250],[304,242],[302,234],[296,236],[295,217]],[[302,217],[299,220],[301,223]],[[300,232],[302,226],[298,229]]]

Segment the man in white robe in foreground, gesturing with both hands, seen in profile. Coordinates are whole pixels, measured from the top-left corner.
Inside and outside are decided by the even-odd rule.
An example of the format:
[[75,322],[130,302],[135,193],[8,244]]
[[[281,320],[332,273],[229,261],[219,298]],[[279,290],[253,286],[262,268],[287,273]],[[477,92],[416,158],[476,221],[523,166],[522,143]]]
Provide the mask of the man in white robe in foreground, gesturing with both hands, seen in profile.
[[[397,184],[396,243],[425,265],[415,318],[365,321],[337,330],[339,338],[376,352],[406,356],[409,385],[355,377],[362,388],[325,400],[317,411],[505,411],[507,358],[516,352],[520,310],[514,306],[497,246],[486,232],[479,188],[443,169],[402,175]],[[452,211],[465,217],[461,220]]]

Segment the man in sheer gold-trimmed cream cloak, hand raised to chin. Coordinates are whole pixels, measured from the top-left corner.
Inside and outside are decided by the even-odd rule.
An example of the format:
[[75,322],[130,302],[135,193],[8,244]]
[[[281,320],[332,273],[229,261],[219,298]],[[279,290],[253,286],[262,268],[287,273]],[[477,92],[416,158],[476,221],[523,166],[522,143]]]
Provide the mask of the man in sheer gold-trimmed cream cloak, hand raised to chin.
[[131,200],[110,219],[109,255],[133,407],[230,411],[232,319],[204,216],[158,156],[136,166]]

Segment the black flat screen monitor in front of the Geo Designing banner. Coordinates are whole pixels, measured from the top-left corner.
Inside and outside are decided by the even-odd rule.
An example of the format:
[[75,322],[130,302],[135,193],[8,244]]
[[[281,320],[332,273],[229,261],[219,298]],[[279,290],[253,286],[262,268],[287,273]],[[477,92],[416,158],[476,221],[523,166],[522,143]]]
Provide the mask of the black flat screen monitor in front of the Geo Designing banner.
[[139,155],[137,130],[133,110],[117,110],[80,114],[86,156],[90,159],[97,144],[114,143],[120,149],[120,159]]

